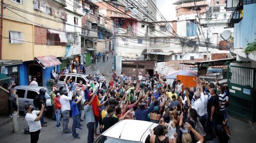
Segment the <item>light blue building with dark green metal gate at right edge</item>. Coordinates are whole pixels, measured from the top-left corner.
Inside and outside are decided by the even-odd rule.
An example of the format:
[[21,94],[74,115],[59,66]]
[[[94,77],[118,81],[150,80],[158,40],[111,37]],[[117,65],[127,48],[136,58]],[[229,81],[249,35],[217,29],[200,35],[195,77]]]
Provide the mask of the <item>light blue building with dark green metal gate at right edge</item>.
[[229,111],[256,123],[256,1],[227,0],[232,13],[227,26],[234,27],[235,63],[228,72]]

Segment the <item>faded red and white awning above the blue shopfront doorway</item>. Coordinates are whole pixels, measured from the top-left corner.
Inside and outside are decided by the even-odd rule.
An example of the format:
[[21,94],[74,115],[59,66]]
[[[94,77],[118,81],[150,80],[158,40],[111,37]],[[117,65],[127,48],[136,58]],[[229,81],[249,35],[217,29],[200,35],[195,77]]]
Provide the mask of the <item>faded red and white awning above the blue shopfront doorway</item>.
[[54,65],[61,65],[60,60],[55,56],[35,57],[34,60],[36,60],[43,67],[43,69]]

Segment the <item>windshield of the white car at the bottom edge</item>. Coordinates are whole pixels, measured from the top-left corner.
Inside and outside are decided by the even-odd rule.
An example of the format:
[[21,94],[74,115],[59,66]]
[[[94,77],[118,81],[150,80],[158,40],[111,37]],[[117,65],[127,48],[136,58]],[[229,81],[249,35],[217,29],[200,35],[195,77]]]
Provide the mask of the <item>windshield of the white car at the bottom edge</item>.
[[141,143],[141,142],[122,140],[119,138],[113,138],[108,136],[99,136],[94,143]]

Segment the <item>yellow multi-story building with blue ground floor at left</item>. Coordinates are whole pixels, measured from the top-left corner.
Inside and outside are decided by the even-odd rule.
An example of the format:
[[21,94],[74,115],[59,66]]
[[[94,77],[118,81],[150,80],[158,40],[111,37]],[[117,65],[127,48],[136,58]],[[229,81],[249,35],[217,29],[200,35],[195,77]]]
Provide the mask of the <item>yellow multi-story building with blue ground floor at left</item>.
[[5,0],[2,59],[22,60],[2,67],[18,85],[37,78],[46,86],[66,51],[65,0]]

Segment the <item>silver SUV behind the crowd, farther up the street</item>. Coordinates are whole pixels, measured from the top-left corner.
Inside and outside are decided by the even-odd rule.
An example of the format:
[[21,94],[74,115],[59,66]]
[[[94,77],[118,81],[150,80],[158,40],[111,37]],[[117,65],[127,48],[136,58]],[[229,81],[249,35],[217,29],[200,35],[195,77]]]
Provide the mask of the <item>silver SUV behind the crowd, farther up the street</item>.
[[79,81],[83,81],[83,84],[86,84],[89,82],[89,76],[85,74],[80,73],[66,73],[61,75],[57,82],[57,86],[60,88],[64,86],[64,81],[67,81],[69,78],[72,79],[72,81],[75,81],[75,83],[79,84]]

